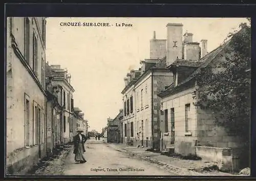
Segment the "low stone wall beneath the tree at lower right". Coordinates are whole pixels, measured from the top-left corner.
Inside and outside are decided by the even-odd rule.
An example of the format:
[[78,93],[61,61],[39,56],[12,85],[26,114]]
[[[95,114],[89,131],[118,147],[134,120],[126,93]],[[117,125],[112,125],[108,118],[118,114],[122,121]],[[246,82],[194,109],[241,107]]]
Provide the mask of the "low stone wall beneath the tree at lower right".
[[236,172],[239,162],[234,159],[231,148],[196,146],[196,155],[204,160],[214,161],[221,171]]

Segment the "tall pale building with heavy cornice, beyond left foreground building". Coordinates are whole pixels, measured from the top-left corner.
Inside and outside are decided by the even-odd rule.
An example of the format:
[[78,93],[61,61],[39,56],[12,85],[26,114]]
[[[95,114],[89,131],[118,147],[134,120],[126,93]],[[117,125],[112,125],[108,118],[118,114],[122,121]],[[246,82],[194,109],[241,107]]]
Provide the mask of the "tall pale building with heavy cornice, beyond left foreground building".
[[63,111],[60,114],[60,120],[58,120],[61,127],[61,142],[68,143],[73,141],[73,93],[74,88],[70,83],[71,75],[68,74],[66,69],[62,69],[60,65],[50,65],[51,71],[54,72],[52,78],[52,85],[60,87],[57,94],[60,105],[63,107]]

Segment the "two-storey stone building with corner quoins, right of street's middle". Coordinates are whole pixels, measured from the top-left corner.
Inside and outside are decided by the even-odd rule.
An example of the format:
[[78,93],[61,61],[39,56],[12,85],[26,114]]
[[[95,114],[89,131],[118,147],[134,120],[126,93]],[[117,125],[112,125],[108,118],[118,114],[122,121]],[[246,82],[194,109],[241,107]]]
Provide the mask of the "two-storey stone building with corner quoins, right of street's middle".
[[127,74],[124,79],[121,127],[125,144],[132,142],[133,145],[159,148],[160,99],[157,94],[173,80],[172,73],[164,67],[165,61],[165,58],[140,61],[140,72],[131,71],[131,78]]

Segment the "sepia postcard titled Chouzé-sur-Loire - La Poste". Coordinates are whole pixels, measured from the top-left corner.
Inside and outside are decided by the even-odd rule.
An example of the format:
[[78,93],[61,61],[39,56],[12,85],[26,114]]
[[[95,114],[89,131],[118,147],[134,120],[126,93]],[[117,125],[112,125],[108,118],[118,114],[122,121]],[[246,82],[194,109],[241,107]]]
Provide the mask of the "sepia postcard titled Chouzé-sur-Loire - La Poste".
[[250,18],[6,25],[7,175],[250,175]]

